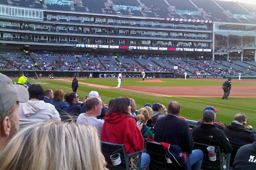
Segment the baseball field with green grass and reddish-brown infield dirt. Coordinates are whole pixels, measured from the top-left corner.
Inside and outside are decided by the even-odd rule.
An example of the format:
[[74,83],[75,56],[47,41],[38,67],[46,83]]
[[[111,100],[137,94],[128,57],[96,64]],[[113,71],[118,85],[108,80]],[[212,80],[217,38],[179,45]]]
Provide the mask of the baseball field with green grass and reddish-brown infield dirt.
[[[90,91],[98,91],[102,101],[108,103],[111,98],[119,96],[131,97],[137,104],[137,109],[145,103],[161,103],[168,107],[170,101],[181,105],[180,116],[191,120],[199,120],[205,107],[211,105],[217,108],[217,120],[230,124],[236,113],[247,117],[247,125],[256,128],[256,79],[232,80],[232,89],[228,100],[221,99],[222,84],[226,79],[146,79],[123,78],[121,88],[115,88],[117,78],[77,78],[79,88],[77,94],[84,99]],[[40,83],[43,88],[53,91],[62,89],[72,92],[72,78],[55,78],[53,80],[28,78],[30,83]],[[18,79],[14,79],[17,82]]]

